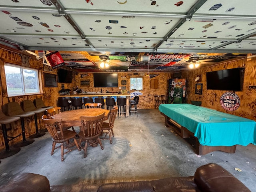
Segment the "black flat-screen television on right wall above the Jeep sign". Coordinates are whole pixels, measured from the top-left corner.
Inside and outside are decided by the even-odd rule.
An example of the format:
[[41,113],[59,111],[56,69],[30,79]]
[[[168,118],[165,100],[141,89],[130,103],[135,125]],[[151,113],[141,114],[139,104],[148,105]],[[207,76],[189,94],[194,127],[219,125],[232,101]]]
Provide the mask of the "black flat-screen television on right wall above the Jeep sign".
[[242,90],[243,68],[233,68],[206,72],[207,89],[213,90]]

